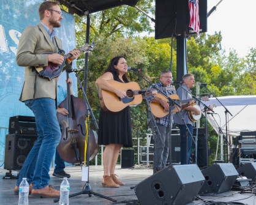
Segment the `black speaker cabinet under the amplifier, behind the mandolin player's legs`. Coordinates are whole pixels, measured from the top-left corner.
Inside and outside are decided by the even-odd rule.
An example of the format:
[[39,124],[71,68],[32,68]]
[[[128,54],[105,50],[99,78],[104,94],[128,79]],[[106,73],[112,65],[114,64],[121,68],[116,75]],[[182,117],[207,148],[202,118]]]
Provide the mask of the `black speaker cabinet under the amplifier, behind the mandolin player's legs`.
[[6,135],[4,169],[20,170],[36,140],[37,135]]

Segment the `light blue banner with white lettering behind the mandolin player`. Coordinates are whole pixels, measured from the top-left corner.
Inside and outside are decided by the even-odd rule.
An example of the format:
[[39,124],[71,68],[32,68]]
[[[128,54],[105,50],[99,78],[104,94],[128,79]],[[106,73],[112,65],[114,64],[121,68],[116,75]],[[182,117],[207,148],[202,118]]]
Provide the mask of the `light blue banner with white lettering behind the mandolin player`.
[[[42,0],[5,0],[0,1],[0,160],[4,160],[6,128],[9,117],[33,116],[24,103],[20,102],[24,82],[24,67],[16,64],[18,42],[27,26],[40,23],[38,9]],[[61,28],[55,28],[56,36],[62,40],[63,50],[69,53],[75,48],[75,21],[73,15],[62,11]],[[76,62],[73,62],[76,69]],[[59,84],[66,88],[66,73],[59,77]],[[72,73],[72,90],[77,94],[77,79]]]

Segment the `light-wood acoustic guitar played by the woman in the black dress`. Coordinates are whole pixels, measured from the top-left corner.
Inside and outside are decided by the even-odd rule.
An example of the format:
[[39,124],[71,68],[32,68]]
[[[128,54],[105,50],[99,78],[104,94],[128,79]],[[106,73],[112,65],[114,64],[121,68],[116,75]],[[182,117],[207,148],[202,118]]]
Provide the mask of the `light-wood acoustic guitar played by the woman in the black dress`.
[[[115,80],[108,81],[115,88],[121,89],[126,92],[126,97],[119,98],[114,92],[106,91],[99,88],[99,100],[102,109],[105,112],[118,112],[126,108],[127,106],[137,106],[142,102],[142,95],[145,92],[151,92],[154,89],[140,90],[138,83],[132,81],[129,83],[120,83]],[[175,86],[161,87],[162,91],[175,91]]]

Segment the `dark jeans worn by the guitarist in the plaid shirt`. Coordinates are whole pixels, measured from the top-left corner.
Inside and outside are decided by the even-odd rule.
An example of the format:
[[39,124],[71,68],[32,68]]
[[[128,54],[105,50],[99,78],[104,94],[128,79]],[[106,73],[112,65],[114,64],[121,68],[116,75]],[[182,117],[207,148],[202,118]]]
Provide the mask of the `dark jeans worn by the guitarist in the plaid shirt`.
[[159,136],[154,137],[154,158],[153,158],[153,170],[165,168],[168,159],[170,138],[169,138],[169,127],[157,123]]

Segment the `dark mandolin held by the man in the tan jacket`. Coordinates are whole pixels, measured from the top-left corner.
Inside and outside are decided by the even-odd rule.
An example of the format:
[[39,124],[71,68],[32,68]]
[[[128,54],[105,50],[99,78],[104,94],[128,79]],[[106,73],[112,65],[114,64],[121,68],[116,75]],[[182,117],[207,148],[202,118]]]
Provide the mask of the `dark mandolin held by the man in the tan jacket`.
[[[78,51],[83,51],[83,52],[89,52],[94,49],[94,46],[96,43],[92,42],[92,45],[84,45],[83,47],[79,48]],[[50,52],[47,53],[42,53],[42,54],[53,54]],[[44,67],[35,67],[37,75],[39,75],[41,78],[47,78],[48,80],[51,80],[52,78],[56,78],[59,75],[61,75],[61,72],[66,70],[66,66],[69,62],[66,62],[66,59],[72,56],[72,54],[68,53],[65,54],[64,50],[59,50],[58,54],[61,54],[64,56],[64,61],[62,62],[61,65],[53,64],[52,62],[48,62],[47,66]]]

